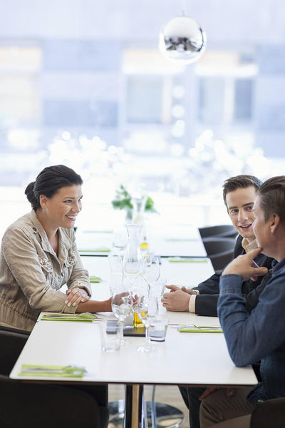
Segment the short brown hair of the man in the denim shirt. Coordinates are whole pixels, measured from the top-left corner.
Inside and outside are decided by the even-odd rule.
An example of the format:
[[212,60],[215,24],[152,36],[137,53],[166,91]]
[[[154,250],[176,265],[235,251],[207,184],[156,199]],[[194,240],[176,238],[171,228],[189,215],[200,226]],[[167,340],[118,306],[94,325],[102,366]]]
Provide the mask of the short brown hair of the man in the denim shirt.
[[285,225],[285,175],[264,181],[257,194],[260,197],[259,205],[264,222],[268,221],[271,215],[276,214]]

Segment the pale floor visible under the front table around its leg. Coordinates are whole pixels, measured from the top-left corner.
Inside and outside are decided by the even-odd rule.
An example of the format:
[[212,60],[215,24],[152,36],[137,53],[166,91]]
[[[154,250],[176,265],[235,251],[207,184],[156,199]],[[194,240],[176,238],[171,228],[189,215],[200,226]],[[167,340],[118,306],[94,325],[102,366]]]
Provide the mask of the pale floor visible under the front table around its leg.
[[[125,389],[123,385],[111,385],[109,384],[109,402],[116,401],[118,399],[123,399],[125,394]],[[152,387],[144,387],[145,399],[148,401],[151,399]],[[172,407],[179,409],[185,416],[182,424],[179,425],[180,428],[190,428],[189,418],[188,418],[188,409],[185,406],[183,399],[180,395],[178,387],[161,387],[157,386],[155,388],[155,402],[169,404]],[[113,428],[113,424],[109,424],[108,428]],[[115,428],[115,427],[114,427]],[[118,425],[116,425],[118,428]],[[128,427],[126,427],[128,428]],[[149,427],[151,428],[151,427]]]

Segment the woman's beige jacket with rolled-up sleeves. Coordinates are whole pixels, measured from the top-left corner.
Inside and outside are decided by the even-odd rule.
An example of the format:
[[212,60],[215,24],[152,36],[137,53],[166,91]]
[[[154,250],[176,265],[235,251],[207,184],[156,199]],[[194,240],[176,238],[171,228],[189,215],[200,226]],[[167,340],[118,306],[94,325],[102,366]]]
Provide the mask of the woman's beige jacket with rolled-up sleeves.
[[83,287],[91,295],[73,230],[59,228],[58,257],[36,212],[24,215],[4,233],[0,255],[0,324],[32,330],[41,311],[76,312],[61,287]]

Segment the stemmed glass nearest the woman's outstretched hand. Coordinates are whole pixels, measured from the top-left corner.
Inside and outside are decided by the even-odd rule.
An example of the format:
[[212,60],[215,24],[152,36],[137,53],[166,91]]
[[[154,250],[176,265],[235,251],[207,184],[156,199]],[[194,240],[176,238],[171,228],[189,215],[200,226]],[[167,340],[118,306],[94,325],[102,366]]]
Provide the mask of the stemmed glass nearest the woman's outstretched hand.
[[114,292],[112,298],[112,310],[113,314],[118,320],[118,325],[120,329],[120,345],[126,345],[129,343],[128,340],[124,339],[124,322],[126,318],[132,314],[133,305],[128,291]]

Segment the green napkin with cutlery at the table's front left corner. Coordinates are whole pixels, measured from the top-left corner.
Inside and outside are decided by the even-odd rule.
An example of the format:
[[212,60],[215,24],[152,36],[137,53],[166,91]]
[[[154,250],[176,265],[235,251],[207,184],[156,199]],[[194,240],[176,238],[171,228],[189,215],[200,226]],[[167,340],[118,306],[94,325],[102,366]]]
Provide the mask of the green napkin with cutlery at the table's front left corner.
[[19,376],[83,377],[85,367],[23,364]]

